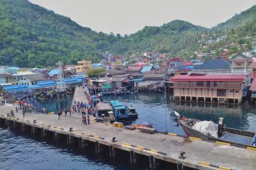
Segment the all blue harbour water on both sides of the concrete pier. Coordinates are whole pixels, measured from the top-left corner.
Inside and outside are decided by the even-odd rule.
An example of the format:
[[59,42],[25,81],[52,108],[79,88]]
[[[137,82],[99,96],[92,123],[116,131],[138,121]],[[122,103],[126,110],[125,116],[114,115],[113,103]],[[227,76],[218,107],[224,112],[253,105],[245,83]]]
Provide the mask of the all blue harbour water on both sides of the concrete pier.
[[[68,105],[72,96],[70,96]],[[110,101],[114,96],[103,98]],[[138,96],[116,96],[127,106],[134,106],[139,119],[133,123],[149,122],[159,131],[174,132],[184,135],[181,127],[176,126],[173,111],[178,111],[187,117],[218,122],[221,116],[230,128],[239,128],[256,132],[255,106],[245,104],[210,105],[203,103],[168,102],[165,105],[164,94],[144,94]],[[49,104],[50,103],[50,104]],[[43,101],[43,105],[55,110],[55,99],[50,102]],[[51,139],[41,140],[40,137],[31,137],[29,134],[21,135],[10,130],[0,130],[0,169],[148,169],[148,159],[142,164],[131,166],[122,154],[117,159],[110,159],[108,152],[96,155],[88,148],[81,151],[78,148],[67,149],[62,143],[53,144]],[[166,166],[160,169],[167,169]],[[169,168],[170,169],[170,168]]]

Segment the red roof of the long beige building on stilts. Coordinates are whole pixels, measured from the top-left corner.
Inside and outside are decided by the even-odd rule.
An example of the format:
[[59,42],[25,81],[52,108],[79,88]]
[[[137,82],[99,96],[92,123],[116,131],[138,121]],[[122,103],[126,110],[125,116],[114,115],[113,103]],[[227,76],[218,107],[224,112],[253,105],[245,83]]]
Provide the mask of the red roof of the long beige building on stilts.
[[244,81],[242,74],[177,75],[169,81]]

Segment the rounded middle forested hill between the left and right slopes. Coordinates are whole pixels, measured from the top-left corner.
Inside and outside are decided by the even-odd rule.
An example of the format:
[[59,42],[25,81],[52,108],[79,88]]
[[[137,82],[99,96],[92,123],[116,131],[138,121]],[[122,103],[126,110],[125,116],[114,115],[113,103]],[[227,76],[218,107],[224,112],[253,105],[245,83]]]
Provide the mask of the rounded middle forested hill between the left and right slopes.
[[186,21],[175,20],[164,26],[146,26],[137,33],[121,40],[112,46],[115,53],[124,51],[176,52],[196,50],[201,34],[208,29],[195,26]]

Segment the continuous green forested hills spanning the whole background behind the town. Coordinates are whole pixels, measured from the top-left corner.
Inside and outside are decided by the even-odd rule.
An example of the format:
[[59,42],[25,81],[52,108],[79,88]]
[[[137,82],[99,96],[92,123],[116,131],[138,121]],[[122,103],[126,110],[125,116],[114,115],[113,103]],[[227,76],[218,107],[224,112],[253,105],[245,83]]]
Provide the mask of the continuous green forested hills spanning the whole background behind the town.
[[[211,29],[176,20],[160,27],[146,26],[137,33],[122,37],[96,33],[28,0],[1,0],[0,64],[45,67],[58,60],[65,64],[75,64],[81,59],[97,62],[105,50],[127,56],[143,51],[171,52],[170,57],[188,58],[195,50],[202,48],[204,52],[210,52],[230,41],[247,44],[242,49],[230,48],[230,53],[250,50],[252,45],[245,36],[255,38],[254,16],[256,6]],[[207,40],[222,35],[228,37],[202,47]]]

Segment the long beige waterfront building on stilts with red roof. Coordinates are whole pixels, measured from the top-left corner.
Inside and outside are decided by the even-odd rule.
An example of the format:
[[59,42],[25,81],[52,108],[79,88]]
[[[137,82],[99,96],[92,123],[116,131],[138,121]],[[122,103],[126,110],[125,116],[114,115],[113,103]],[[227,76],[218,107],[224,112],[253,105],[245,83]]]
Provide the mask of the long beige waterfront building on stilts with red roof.
[[240,103],[245,96],[244,74],[177,75],[169,81],[177,100]]

